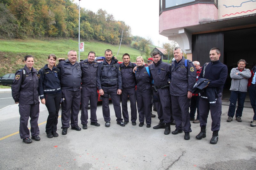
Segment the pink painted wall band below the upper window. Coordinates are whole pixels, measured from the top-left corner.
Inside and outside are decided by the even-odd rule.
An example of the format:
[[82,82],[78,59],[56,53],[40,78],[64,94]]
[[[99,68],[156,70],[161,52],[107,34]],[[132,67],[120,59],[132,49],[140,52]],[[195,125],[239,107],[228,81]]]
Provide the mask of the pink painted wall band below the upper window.
[[159,16],[159,33],[174,28],[198,25],[203,21],[218,19],[218,9],[214,4],[194,4],[164,11]]

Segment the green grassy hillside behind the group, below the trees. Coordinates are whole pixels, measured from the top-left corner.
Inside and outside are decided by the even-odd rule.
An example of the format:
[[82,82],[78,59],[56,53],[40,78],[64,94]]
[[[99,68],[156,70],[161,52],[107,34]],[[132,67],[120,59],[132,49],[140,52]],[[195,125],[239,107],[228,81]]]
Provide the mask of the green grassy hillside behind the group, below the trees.
[[[83,41],[81,41],[83,42]],[[111,49],[116,56],[119,45],[111,45],[103,42],[90,41],[84,42],[84,52],[80,52],[80,60],[87,58],[90,51],[95,51],[96,56],[104,56],[106,49]],[[154,47],[152,47],[153,49]],[[6,73],[15,73],[24,66],[23,58],[25,55],[35,57],[34,67],[39,70],[47,63],[49,54],[55,54],[57,58],[66,58],[69,50],[78,49],[78,40],[74,39],[0,39],[0,76]],[[135,62],[136,57],[140,56],[140,51],[130,46],[121,45],[117,59],[122,61],[124,53],[131,56],[131,61]],[[78,55],[78,54],[77,54]],[[77,57],[78,58],[78,57]],[[143,56],[144,60],[147,57]]]

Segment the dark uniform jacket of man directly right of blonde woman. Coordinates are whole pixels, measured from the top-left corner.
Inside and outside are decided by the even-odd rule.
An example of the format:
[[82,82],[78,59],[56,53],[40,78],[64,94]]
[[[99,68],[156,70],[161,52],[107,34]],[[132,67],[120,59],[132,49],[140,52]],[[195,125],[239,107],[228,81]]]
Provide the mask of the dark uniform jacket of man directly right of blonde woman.
[[157,63],[153,62],[148,67],[154,80],[154,86],[160,88],[169,83],[169,75],[171,74],[171,66],[169,64],[160,59]]

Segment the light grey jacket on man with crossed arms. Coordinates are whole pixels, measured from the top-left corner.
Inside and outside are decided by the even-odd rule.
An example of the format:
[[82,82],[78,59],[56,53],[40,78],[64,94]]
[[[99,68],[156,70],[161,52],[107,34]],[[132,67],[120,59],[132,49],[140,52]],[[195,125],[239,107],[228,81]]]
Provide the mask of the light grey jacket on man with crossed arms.
[[[238,73],[238,75],[236,74]],[[247,92],[247,84],[248,79],[251,77],[251,71],[249,69],[244,68],[242,72],[236,68],[232,68],[230,72],[231,87],[229,90]]]

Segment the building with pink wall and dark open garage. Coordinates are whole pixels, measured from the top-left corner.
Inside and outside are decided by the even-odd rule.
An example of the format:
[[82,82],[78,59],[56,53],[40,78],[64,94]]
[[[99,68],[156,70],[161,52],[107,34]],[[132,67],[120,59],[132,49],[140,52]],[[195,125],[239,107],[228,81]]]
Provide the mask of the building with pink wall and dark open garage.
[[[256,63],[256,0],[159,0],[159,34],[176,41],[190,60],[209,62],[212,47],[229,71]],[[227,80],[228,82],[229,80]]]

